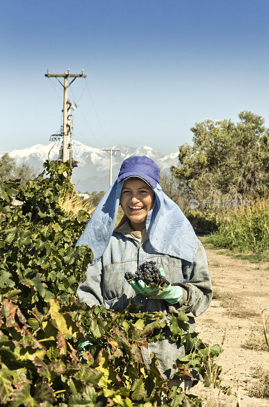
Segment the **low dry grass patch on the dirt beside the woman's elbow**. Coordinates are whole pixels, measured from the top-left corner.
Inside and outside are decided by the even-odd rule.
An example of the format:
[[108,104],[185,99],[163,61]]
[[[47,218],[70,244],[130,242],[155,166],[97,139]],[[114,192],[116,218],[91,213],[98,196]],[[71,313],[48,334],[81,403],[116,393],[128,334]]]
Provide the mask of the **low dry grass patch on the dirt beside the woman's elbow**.
[[251,316],[257,316],[258,313],[246,309],[240,302],[240,298],[232,293],[221,293],[217,288],[213,290],[213,299],[220,301],[220,305],[223,308],[227,308],[230,316],[237,318],[249,318]]

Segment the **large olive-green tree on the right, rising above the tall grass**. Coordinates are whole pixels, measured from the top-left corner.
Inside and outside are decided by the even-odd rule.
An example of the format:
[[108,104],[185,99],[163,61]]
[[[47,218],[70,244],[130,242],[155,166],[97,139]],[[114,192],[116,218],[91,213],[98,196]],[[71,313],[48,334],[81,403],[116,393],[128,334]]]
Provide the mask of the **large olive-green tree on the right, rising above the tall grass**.
[[269,194],[269,135],[264,119],[250,111],[240,122],[207,119],[196,123],[193,147],[180,146],[181,166],[171,167],[196,199],[261,197]]

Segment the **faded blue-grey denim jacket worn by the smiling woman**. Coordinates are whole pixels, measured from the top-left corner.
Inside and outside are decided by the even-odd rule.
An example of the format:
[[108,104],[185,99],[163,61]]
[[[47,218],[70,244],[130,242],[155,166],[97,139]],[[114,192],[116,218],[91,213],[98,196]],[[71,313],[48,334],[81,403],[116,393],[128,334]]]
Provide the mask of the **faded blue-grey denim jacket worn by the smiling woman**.
[[[191,328],[195,328],[194,317],[206,310],[211,302],[213,291],[207,259],[203,245],[199,242],[193,263],[180,258],[156,252],[147,237],[142,242],[130,233],[114,230],[103,256],[86,271],[86,280],[77,289],[79,301],[89,306],[104,305],[107,309],[122,311],[133,298],[144,305],[147,312],[176,314],[183,310],[189,317]],[[156,261],[157,268],[163,268],[171,284],[180,285],[183,297],[180,302],[170,305],[165,300],[151,300],[137,294],[125,280],[125,273],[134,273],[144,261]],[[162,340],[142,348],[145,363],[150,363],[154,352],[163,377],[172,377],[172,365],[177,358],[185,355],[184,346],[176,342]]]

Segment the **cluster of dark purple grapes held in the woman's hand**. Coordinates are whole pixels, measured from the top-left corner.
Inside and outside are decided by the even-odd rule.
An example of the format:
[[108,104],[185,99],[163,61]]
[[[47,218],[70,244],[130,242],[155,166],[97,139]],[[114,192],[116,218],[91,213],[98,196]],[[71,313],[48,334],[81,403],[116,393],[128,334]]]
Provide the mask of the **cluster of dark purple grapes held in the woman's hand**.
[[138,270],[135,272],[135,274],[132,274],[129,271],[125,273],[125,278],[127,281],[142,280],[147,286],[151,287],[163,287],[164,284],[170,284],[165,277],[159,274],[156,267],[156,261],[145,261],[145,263],[141,264],[138,267]]

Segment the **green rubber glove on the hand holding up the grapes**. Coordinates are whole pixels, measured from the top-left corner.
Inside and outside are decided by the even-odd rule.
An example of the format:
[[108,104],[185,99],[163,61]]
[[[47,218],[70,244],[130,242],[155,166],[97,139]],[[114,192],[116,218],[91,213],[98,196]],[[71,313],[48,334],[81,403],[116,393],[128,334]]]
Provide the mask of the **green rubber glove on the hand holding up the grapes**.
[[[158,271],[161,276],[165,277],[163,269],[159,269]],[[161,289],[159,287],[147,287],[142,280],[138,280],[138,282],[132,280],[129,281],[129,284],[136,293],[154,300],[165,300],[171,305],[176,304],[183,296],[182,288],[179,285],[165,285]]]

